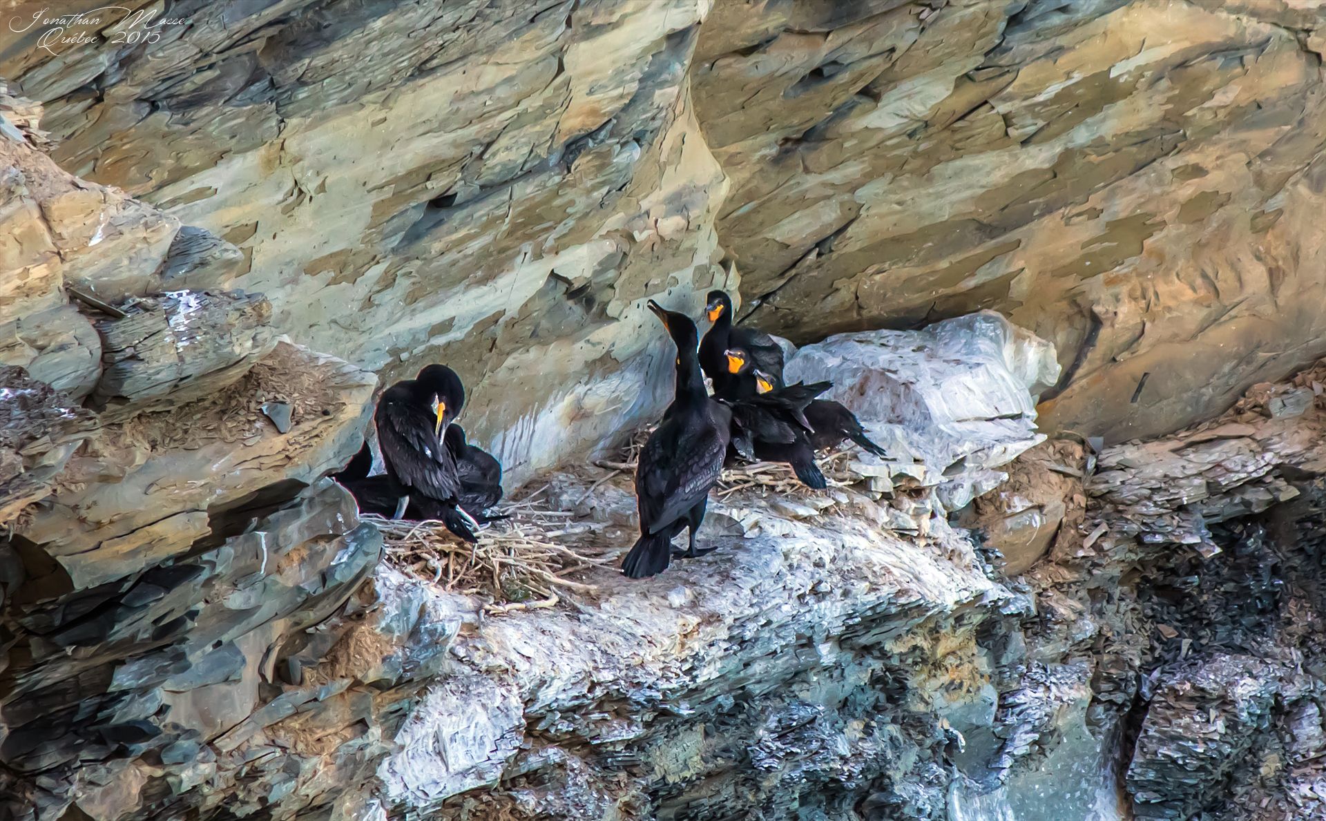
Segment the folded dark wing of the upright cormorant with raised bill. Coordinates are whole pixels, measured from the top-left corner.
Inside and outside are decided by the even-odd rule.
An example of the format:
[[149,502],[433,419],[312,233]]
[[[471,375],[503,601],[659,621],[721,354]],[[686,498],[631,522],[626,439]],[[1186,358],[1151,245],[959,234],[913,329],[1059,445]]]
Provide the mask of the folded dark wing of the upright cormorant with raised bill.
[[640,531],[658,533],[709,493],[723,474],[728,431],[705,424],[687,432],[663,423],[644,443],[635,470]]

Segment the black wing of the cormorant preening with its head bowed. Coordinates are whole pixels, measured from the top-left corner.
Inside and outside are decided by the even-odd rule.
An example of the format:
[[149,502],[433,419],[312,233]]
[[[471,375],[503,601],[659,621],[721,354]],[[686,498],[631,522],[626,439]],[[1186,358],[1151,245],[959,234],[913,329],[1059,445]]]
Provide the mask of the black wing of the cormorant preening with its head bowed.
[[456,497],[460,491],[456,462],[434,436],[431,414],[389,390],[378,402],[374,420],[382,462],[396,481],[440,501]]

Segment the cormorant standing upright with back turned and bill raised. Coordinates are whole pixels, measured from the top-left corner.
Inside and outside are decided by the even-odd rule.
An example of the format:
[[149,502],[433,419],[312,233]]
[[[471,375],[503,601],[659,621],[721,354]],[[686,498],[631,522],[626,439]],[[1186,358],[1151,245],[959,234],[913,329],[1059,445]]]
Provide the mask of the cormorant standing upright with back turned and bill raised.
[[622,560],[622,572],[631,578],[663,572],[672,557],[672,537],[683,528],[690,528],[687,554],[697,556],[695,532],[704,521],[709,488],[723,472],[732,424],[727,406],[711,399],[704,389],[695,324],[654,300],[650,310],[676,345],[676,389],[635,468],[640,537]]

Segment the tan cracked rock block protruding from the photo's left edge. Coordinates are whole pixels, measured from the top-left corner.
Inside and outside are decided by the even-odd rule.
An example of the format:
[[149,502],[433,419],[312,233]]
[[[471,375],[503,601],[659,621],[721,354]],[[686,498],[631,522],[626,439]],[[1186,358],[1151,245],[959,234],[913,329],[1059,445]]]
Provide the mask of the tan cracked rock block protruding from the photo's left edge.
[[0,129],[0,363],[82,399],[102,370],[91,317],[106,314],[95,306],[215,288],[240,255],[123,191],[61,170],[37,150],[49,147],[33,127],[40,111],[0,92],[0,117],[17,123]]

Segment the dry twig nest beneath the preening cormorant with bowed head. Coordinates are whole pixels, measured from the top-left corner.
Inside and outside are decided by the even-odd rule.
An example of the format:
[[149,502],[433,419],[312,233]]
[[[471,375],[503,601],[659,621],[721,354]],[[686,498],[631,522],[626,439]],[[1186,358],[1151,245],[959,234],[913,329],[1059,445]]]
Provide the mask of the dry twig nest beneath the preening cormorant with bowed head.
[[379,531],[386,557],[402,570],[443,589],[485,600],[488,613],[556,606],[569,593],[597,586],[570,578],[617,560],[591,544],[589,523],[570,523],[572,513],[545,511],[529,500],[507,505],[509,517],[461,541],[440,521],[402,521],[365,515]]

